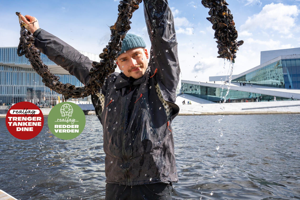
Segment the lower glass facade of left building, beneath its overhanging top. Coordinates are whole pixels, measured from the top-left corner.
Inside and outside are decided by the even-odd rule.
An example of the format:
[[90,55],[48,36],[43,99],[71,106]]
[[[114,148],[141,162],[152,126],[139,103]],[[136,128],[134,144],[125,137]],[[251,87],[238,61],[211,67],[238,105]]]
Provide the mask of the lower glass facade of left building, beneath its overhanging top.
[[[76,87],[84,86],[75,76],[69,74],[55,74],[62,83],[71,83]],[[39,76],[32,68],[0,65],[0,105],[18,103],[21,101],[51,104],[61,97],[61,94],[45,87]],[[85,97],[86,99],[86,97]],[[82,100],[80,98],[79,100]]]

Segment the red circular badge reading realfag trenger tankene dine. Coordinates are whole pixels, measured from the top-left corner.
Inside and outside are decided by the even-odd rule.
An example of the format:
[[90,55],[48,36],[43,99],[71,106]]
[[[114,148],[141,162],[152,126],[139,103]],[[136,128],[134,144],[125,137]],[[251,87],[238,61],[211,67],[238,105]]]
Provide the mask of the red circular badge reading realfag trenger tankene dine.
[[6,127],[10,134],[18,139],[34,138],[41,132],[43,125],[42,111],[30,102],[16,103],[6,114]]

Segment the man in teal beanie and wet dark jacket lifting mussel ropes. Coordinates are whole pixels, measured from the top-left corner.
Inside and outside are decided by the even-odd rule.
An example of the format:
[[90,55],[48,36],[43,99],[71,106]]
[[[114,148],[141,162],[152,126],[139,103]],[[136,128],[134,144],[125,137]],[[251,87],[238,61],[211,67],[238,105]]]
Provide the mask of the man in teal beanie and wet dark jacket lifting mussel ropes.
[[[141,37],[126,34],[116,61],[122,73],[107,77],[92,95],[104,132],[109,200],[172,199],[172,183],[178,181],[171,122],[179,113],[175,100],[180,68],[173,15],[167,0],[144,0],[144,13],[150,52]],[[26,17],[27,24],[37,21]],[[38,22],[30,27],[41,52],[82,83],[88,81],[92,61],[39,28]]]

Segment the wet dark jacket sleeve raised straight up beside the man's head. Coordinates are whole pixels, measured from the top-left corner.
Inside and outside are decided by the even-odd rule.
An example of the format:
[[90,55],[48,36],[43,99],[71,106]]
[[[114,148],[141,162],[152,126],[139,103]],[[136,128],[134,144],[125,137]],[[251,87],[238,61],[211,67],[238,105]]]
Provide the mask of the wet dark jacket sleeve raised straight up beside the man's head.
[[164,99],[175,103],[180,68],[172,12],[167,0],[144,0],[144,13],[152,45],[149,61],[151,74],[157,68]]

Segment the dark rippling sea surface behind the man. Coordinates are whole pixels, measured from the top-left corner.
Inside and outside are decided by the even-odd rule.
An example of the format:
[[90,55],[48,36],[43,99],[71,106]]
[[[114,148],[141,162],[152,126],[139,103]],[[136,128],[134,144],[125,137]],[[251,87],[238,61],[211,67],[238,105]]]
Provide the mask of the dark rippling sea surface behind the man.
[[[30,140],[0,118],[0,189],[17,199],[105,198],[102,126],[61,140],[47,117]],[[220,121],[220,123],[219,123]],[[300,115],[177,116],[173,199],[300,199]]]

